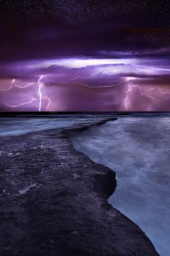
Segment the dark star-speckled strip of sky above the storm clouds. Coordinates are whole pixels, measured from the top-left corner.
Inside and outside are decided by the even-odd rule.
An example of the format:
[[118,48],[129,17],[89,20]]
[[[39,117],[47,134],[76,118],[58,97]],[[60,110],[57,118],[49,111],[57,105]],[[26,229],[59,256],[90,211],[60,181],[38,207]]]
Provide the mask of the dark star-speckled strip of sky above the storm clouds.
[[170,1],[76,1],[76,0],[1,0],[0,17],[8,24],[27,20],[55,22],[66,20],[71,24],[113,20],[133,22],[133,25],[168,27]]

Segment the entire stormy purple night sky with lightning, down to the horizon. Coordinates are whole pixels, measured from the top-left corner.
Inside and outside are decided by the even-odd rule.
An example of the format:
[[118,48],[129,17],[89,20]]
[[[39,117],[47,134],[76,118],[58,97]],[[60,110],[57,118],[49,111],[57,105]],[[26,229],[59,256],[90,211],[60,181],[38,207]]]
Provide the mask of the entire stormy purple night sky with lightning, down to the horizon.
[[170,111],[170,0],[0,0],[0,111]]

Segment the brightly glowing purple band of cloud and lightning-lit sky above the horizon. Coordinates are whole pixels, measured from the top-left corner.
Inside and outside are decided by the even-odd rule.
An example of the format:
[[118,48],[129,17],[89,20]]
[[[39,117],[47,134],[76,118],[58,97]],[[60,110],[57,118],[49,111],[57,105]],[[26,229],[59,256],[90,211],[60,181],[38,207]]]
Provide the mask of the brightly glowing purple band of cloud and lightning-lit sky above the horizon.
[[6,64],[1,69],[1,109],[168,111],[168,61],[151,57],[141,59],[140,54],[127,55],[126,59],[79,56]]

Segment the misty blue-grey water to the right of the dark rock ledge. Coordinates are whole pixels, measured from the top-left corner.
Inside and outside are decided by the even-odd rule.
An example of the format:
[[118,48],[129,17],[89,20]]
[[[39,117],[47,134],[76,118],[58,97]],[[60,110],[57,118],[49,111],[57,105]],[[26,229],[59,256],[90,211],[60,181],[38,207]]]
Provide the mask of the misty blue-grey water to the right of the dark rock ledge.
[[120,117],[71,137],[77,150],[116,171],[109,202],[170,255],[170,117]]

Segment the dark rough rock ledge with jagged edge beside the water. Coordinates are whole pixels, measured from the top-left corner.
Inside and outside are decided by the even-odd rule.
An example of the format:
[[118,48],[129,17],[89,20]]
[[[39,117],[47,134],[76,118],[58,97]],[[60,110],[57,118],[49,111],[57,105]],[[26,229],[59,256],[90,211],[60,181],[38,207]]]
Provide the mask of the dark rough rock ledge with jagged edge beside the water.
[[107,203],[115,172],[74,150],[61,129],[1,138],[0,147],[0,255],[158,255]]

